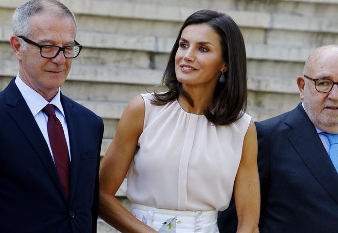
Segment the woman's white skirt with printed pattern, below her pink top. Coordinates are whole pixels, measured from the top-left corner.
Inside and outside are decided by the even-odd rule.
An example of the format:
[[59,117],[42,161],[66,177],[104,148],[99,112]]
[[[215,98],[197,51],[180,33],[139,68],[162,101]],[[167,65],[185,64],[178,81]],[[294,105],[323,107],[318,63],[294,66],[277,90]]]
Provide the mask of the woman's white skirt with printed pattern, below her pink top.
[[219,233],[216,211],[172,211],[133,203],[130,212],[159,233]]

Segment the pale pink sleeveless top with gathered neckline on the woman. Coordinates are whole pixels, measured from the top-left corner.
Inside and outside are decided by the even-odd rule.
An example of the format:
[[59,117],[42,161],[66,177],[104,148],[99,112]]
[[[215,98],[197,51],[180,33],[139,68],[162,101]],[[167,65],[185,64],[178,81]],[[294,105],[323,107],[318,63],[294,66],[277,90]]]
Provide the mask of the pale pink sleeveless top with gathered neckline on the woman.
[[141,205],[179,210],[225,210],[251,117],[215,126],[204,115],[163,106],[142,94],[145,122],[127,175],[127,197]]

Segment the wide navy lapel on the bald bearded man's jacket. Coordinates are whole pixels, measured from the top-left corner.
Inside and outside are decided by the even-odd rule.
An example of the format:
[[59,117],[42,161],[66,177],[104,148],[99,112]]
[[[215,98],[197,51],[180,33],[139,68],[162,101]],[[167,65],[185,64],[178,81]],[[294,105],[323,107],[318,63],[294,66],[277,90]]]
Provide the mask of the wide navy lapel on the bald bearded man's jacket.
[[288,136],[290,143],[317,181],[338,203],[338,173],[303,106],[298,105],[291,111],[286,124],[293,128]]

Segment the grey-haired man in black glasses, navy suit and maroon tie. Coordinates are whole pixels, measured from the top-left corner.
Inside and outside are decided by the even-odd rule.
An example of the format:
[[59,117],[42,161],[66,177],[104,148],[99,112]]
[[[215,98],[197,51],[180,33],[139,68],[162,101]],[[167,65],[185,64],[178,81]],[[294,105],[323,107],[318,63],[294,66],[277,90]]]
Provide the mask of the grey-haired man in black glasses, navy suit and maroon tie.
[[0,92],[0,232],[95,233],[103,122],[60,91],[82,48],[73,13],[31,0],[13,15],[19,73]]

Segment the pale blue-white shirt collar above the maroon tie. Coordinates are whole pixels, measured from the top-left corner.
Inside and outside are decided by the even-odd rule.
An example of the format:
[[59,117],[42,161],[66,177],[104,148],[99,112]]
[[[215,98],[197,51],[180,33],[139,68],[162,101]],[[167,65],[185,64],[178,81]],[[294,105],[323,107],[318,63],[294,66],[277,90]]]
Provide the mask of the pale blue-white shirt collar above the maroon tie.
[[65,117],[65,113],[63,111],[62,105],[61,105],[61,94],[60,94],[60,87],[55,95],[55,97],[48,103],[47,100],[45,100],[44,97],[42,97],[38,92],[30,88],[28,85],[26,85],[20,78],[19,74],[17,75],[15,79],[15,84],[18,86],[21,94],[24,97],[25,102],[27,103],[30,111],[32,112],[33,116],[35,117],[36,114],[38,114],[44,106],[47,104],[53,104],[56,106],[62,115]]

